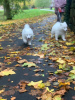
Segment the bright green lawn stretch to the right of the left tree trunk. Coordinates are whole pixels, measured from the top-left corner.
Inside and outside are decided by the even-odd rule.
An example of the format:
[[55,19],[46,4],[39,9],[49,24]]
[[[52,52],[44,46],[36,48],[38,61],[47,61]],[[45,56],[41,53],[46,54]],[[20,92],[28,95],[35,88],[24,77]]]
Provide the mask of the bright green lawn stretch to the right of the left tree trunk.
[[15,15],[13,19],[24,19],[24,18],[32,18],[44,14],[52,13],[50,11],[44,11],[40,9],[29,9],[29,10],[24,10],[23,12]]

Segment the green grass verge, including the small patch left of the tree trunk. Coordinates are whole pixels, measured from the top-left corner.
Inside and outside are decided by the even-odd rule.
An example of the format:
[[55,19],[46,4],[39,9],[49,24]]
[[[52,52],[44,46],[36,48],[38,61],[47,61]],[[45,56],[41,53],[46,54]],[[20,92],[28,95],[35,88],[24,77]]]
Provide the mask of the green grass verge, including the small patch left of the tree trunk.
[[[49,13],[53,13],[50,11],[44,11],[44,10],[40,10],[40,9],[29,9],[29,10],[23,10],[20,11],[18,14],[16,14],[13,19],[25,19],[25,18],[32,18],[32,17],[37,17],[40,15],[45,15],[45,14],[49,14]],[[0,21],[5,21],[6,17],[4,16],[4,12],[0,11]]]

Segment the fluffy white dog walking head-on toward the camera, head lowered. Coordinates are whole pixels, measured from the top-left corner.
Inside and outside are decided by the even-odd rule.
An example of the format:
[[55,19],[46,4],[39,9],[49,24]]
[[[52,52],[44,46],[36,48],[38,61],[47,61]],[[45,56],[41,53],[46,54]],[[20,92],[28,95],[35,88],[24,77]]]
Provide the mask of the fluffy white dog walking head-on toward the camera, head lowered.
[[31,45],[31,41],[33,39],[33,30],[28,24],[26,24],[24,26],[24,29],[22,30],[22,39],[24,43],[28,43],[28,45]]

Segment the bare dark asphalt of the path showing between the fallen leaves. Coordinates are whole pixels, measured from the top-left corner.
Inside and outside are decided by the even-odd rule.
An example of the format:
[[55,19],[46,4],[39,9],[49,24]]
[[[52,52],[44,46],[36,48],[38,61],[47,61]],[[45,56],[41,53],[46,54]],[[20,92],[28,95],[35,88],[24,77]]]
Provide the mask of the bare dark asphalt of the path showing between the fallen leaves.
[[[6,91],[11,90],[12,87],[17,86],[17,84],[21,81],[21,80],[25,80],[25,81],[39,81],[39,80],[43,80],[43,82],[46,82],[49,77],[48,71],[50,72],[54,72],[57,69],[54,67],[51,67],[50,65],[48,65],[49,63],[52,63],[52,65],[54,65],[55,63],[52,62],[51,60],[48,60],[48,58],[45,59],[40,59],[39,56],[31,56],[31,55],[20,55],[20,57],[22,59],[27,59],[27,61],[29,62],[36,62],[37,66],[39,66],[41,69],[43,69],[43,72],[38,72],[39,74],[44,74],[44,76],[34,76],[35,72],[33,70],[35,70],[35,67],[15,67],[16,64],[18,64],[16,61],[14,61],[12,64],[6,64],[7,62],[5,62],[4,57],[8,56],[8,51],[11,48],[14,49],[14,51],[24,51],[26,48],[30,47],[32,52],[35,52],[33,47],[39,47],[40,45],[43,44],[43,42],[40,42],[39,39],[42,38],[42,40],[44,40],[46,38],[46,31],[50,31],[49,27],[46,27],[46,25],[48,23],[52,23],[54,20],[56,20],[56,16],[53,15],[51,17],[48,17],[46,19],[43,19],[41,22],[37,22],[37,23],[33,23],[30,24],[30,26],[33,28],[33,31],[35,33],[35,38],[32,41],[32,45],[28,46],[25,45],[22,41],[21,38],[21,31],[22,28],[20,29],[19,32],[14,32],[12,31],[11,34],[13,33],[18,33],[16,36],[10,36],[10,39],[13,40],[13,42],[10,42],[10,39],[5,39],[5,41],[2,41],[0,44],[2,45],[2,47],[5,49],[5,51],[1,50],[0,52],[0,57],[3,56],[3,58],[0,59],[0,62],[4,63],[4,67],[9,67],[9,68],[13,68],[16,72],[15,75],[9,75],[9,76],[4,76],[0,78],[0,90],[5,88]],[[29,51],[28,51],[29,52]],[[24,53],[24,52],[23,52]],[[44,66],[45,65],[45,66]],[[1,65],[0,65],[1,67]],[[27,74],[27,75],[24,75]],[[10,81],[8,81],[10,80]],[[26,87],[26,89],[28,90],[27,92],[24,93],[19,93],[18,91],[14,92],[14,93],[9,93],[7,92],[6,95],[1,95],[3,96],[3,98],[7,98],[7,100],[10,100],[10,98],[12,96],[16,97],[15,100],[36,100],[36,96],[32,96],[30,95],[30,91],[33,89],[32,87]],[[75,92],[73,90],[68,91],[68,93],[66,93],[66,95],[63,97],[65,98],[65,100],[72,100],[72,95],[75,95]]]

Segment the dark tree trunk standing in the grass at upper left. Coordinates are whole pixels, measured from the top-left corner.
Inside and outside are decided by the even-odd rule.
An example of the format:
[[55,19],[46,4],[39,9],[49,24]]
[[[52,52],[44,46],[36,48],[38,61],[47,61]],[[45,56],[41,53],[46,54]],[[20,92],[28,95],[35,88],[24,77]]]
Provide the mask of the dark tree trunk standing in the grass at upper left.
[[5,8],[5,14],[6,14],[7,20],[12,19],[9,0],[4,0],[4,8]]

